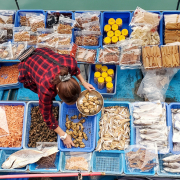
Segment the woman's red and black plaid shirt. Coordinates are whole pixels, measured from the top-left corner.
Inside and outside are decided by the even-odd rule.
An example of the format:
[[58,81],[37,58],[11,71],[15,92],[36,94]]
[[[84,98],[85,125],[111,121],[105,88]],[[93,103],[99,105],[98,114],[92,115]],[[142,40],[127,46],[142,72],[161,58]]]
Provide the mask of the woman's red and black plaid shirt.
[[[57,54],[48,48],[36,49],[35,51],[49,56],[61,65],[69,67],[71,75],[80,74],[77,62],[73,57]],[[58,121],[55,120],[52,114],[52,100],[57,95],[57,92],[51,80],[54,79],[56,74],[60,73],[60,67],[35,54],[25,62],[21,62],[18,68],[20,72],[19,82],[23,83],[25,88],[38,94],[39,108],[44,121],[50,129],[56,129]]]

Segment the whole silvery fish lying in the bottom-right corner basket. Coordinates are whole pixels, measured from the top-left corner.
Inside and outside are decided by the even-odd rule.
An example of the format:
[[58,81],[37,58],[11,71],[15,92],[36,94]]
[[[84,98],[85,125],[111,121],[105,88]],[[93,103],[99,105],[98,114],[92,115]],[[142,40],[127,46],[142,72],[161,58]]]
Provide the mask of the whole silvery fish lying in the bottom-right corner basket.
[[170,155],[162,159],[163,170],[170,173],[180,173],[180,155]]

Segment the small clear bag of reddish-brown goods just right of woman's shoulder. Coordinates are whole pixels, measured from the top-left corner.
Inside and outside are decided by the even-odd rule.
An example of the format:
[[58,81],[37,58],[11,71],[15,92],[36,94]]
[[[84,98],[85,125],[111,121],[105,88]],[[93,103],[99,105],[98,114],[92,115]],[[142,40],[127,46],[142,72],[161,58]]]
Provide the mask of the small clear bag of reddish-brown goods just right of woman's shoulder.
[[97,50],[95,49],[86,49],[78,47],[75,59],[77,62],[95,63],[96,53]]

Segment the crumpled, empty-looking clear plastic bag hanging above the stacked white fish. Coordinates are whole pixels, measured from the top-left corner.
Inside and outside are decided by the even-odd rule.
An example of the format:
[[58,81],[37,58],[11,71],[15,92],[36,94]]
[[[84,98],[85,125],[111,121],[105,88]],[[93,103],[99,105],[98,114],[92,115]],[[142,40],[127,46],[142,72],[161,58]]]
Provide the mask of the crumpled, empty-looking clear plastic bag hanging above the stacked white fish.
[[165,102],[169,83],[177,71],[175,68],[148,71],[141,81],[137,95],[145,97],[149,101]]

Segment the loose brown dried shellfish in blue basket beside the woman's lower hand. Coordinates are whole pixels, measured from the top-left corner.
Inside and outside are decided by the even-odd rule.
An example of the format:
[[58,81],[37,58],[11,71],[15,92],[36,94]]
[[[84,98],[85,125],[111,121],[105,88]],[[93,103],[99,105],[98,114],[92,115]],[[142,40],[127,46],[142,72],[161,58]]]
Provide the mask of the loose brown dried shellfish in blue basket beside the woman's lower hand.
[[[75,120],[75,119],[81,119],[82,118],[82,114],[79,113],[79,115],[73,115],[71,116],[71,120]],[[87,134],[84,132],[84,126],[83,123],[85,123],[85,119],[81,119],[79,122],[74,123],[73,121],[71,121],[68,117],[68,115],[66,115],[66,133],[69,134],[73,139],[73,143],[75,144],[75,147],[80,147],[80,148],[84,148],[85,144],[83,142],[83,139],[85,139],[86,141],[88,140]],[[72,131],[71,131],[72,130]]]

